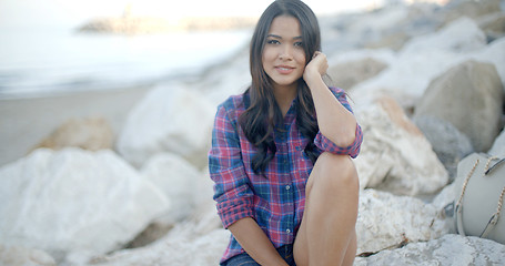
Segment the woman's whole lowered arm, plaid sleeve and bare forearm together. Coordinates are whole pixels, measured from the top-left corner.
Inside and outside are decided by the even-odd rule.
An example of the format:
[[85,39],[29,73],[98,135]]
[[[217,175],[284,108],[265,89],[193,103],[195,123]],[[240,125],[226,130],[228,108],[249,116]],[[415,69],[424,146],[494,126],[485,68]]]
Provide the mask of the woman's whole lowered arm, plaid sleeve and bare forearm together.
[[252,218],[253,193],[248,184],[239,134],[232,122],[235,120],[230,119],[225,105],[218,108],[212,147],[209,152],[209,171],[215,183],[214,200],[218,203],[218,214],[223,226],[257,263],[286,265],[266,234]]

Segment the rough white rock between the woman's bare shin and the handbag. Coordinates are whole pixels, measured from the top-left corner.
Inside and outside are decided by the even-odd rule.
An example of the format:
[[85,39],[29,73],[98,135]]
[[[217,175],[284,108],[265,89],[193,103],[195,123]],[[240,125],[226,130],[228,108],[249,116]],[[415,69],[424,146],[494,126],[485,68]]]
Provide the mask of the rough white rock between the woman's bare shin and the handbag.
[[447,234],[445,217],[418,198],[394,196],[375,190],[360,194],[356,222],[357,254],[376,253],[410,242]]

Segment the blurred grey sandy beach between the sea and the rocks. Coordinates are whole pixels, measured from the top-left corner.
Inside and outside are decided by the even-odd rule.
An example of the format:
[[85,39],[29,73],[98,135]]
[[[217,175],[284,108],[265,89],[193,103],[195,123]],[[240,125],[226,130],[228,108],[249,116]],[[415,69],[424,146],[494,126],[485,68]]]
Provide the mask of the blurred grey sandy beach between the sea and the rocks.
[[0,165],[24,156],[69,119],[101,116],[118,133],[130,110],[150,89],[141,86],[0,99]]

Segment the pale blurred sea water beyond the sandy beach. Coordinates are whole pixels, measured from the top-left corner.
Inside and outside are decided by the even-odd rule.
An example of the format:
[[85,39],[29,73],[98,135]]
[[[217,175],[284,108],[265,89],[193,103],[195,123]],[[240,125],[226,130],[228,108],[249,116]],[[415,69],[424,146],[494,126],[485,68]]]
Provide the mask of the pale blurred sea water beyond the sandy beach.
[[252,29],[122,35],[0,29],[0,98],[112,90],[198,75],[248,45]]

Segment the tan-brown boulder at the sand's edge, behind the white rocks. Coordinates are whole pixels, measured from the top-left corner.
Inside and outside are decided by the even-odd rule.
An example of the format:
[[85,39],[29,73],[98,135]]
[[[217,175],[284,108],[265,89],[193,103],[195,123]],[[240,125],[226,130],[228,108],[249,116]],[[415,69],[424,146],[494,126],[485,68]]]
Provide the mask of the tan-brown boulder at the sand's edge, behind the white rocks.
[[114,143],[114,132],[109,122],[100,116],[71,119],[49,136],[43,139],[36,149],[48,147],[61,150],[68,146],[90,151],[111,150]]

